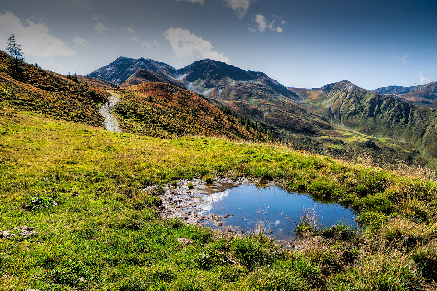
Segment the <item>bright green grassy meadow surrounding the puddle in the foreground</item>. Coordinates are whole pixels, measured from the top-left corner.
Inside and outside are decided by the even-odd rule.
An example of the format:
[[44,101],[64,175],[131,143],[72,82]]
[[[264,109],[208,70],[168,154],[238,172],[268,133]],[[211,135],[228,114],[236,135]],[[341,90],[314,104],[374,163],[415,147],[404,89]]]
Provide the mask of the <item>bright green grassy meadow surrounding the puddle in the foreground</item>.
[[[0,290],[421,290],[435,279],[434,181],[282,146],[113,134],[8,107],[0,122],[0,230],[36,231],[0,240]],[[229,238],[160,218],[159,189],[140,191],[207,174],[330,197],[367,228],[336,225],[320,232],[325,243],[290,252],[263,234]],[[32,211],[35,197],[58,204]]]

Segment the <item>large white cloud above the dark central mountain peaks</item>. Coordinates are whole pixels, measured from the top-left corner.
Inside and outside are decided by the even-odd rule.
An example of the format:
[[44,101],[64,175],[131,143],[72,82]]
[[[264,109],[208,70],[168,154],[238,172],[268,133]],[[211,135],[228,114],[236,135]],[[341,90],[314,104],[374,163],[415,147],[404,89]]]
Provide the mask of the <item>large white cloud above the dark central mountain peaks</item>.
[[197,37],[188,29],[170,28],[164,33],[175,55],[181,59],[214,59],[230,64],[228,57],[214,51],[211,42]]

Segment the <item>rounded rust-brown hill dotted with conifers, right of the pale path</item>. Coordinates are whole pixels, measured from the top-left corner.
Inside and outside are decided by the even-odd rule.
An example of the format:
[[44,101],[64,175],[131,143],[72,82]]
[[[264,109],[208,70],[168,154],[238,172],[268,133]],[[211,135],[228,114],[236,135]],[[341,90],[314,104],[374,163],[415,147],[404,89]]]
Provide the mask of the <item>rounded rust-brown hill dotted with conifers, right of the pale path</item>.
[[256,139],[253,128],[246,129],[199,94],[170,84],[144,83],[114,92],[120,101],[113,112],[127,132],[161,138],[191,134]]

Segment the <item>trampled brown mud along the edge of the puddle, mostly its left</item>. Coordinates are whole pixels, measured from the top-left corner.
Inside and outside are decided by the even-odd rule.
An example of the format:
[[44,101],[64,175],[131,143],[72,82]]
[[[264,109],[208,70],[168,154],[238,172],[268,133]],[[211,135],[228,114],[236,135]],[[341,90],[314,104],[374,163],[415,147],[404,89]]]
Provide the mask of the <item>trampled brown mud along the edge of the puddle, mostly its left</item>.
[[[188,183],[193,184],[193,188],[189,189]],[[214,184],[206,184],[204,180],[179,180],[177,186],[167,185],[163,187],[165,194],[160,194],[157,197],[162,199],[163,204],[158,207],[160,215],[163,218],[180,218],[185,223],[194,225],[205,225],[206,222],[213,222],[212,229],[215,232],[226,233],[229,235],[242,235],[244,232],[235,226],[227,226],[225,220],[231,215],[220,214],[221,209],[215,209],[213,214],[202,214],[204,209],[201,205],[208,203],[208,195],[219,193],[233,187],[238,187],[245,184],[257,185],[260,187],[281,187],[278,181],[264,181],[257,179],[249,179],[242,177],[239,180],[232,179],[216,179]],[[156,191],[156,185],[146,187],[144,191]],[[205,198],[205,199],[204,199]],[[211,201],[211,200],[209,200]],[[300,249],[309,239],[296,236],[291,240],[277,240],[279,244],[286,248]]]

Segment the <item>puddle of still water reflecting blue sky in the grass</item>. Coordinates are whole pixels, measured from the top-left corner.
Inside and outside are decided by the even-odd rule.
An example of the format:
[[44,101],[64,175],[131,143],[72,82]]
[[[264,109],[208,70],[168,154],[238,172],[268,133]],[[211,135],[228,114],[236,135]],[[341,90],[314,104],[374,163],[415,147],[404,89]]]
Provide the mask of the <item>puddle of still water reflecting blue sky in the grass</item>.
[[[260,223],[276,239],[290,240],[296,237],[293,218],[310,211],[323,226],[343,221],[354,225],[354,212],[337,204],[316,201],[306,194],[288,193],[279,187],[265,184],[245,184],[224,191],[202,194],[205,201],[195,208],[203,217],[220,215],[219,222],[201,220],[201,223],[218,229],[236,229],[248,232]],[[241,211],[241,212],[240,212]],[[214,215],[214,216],[215,216]],[[213,216],[213,217],[214,217]]]

